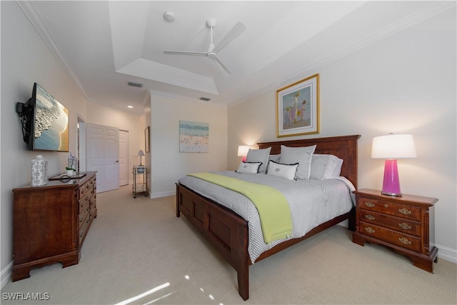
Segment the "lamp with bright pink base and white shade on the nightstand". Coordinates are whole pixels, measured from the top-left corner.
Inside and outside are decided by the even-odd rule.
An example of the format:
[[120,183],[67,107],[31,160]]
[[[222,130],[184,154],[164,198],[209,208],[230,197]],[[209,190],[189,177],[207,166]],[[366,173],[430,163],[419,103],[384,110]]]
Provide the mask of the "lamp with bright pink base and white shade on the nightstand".
[[416,146],[412,134],[387,134],[374,136],[371,146],[372,159],[386,159],[381,194],[401,196],[400,179],[396,159],[416,158]]

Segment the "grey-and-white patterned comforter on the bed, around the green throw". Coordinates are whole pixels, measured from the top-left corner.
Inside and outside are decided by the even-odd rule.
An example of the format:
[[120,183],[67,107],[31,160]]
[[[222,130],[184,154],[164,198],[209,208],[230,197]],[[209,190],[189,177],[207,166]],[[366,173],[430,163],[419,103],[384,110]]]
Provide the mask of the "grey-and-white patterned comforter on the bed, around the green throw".
[[[293,229],[290,239],[302,237],[319,224],[347,213],[354,204],[354,196],[351,193],[353,186],[350,182],[348,185],[345,179],[292,181],[267,174],[238,174],[235,171],[221,171],[216,174],[268,185],[281,192],[291,209]],[[256,206],[243,194],[192,176],[182,177],[179,183],[219,202],[248,221],[248,253],[252,263],[264,251],[287,240],[280,239],[265,244]]]

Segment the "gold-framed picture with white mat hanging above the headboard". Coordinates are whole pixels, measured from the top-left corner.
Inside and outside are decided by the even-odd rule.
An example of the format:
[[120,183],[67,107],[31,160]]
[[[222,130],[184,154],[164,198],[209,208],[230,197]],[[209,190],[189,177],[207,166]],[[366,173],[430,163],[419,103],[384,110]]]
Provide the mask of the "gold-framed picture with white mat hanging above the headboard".
[[319,133],[319,74],[276,91],[276,137]]

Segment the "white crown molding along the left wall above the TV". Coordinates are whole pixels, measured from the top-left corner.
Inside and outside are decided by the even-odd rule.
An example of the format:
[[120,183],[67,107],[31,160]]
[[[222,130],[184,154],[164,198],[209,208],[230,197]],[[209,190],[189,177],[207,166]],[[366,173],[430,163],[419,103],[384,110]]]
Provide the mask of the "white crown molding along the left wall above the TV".
[[70,76],[70,79],[74,82],[84,98],[89,100],[89,97],[84,91],[81,82],[79,81],[78,77],[76,77],[76,74],[74,74],[73,69],[71,69],[69,61],[66,59],[59,46],[56,44],[56,39],[54,39],[54,36],[52,35],[51,31],[49,31],[48,26],[46,26],[46,22],[44,22],[43,18],[39,14],[39,11],[36,9],[34,1],[17,1],[17,4],[19,4],[19,7],[22,9],[22,11],[24,11],[24,14],[35,27],[36,31],[38,31],[38,34],[49,47],[52,54],[54,54],[57,61],[59,61],[59,64],[66,71],[66,74]]

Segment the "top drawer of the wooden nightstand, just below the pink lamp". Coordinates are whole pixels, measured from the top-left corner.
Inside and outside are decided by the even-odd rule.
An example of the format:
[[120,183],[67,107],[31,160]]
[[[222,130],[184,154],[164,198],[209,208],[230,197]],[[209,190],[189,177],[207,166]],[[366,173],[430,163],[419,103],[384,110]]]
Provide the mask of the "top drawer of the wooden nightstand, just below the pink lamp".
[[396,204],[389,201],[381,201],[364,197],[359,197],[357,199],[357,206],[359,209],[378,211],[383,214],[421,221],[421,208],[417,206]]

